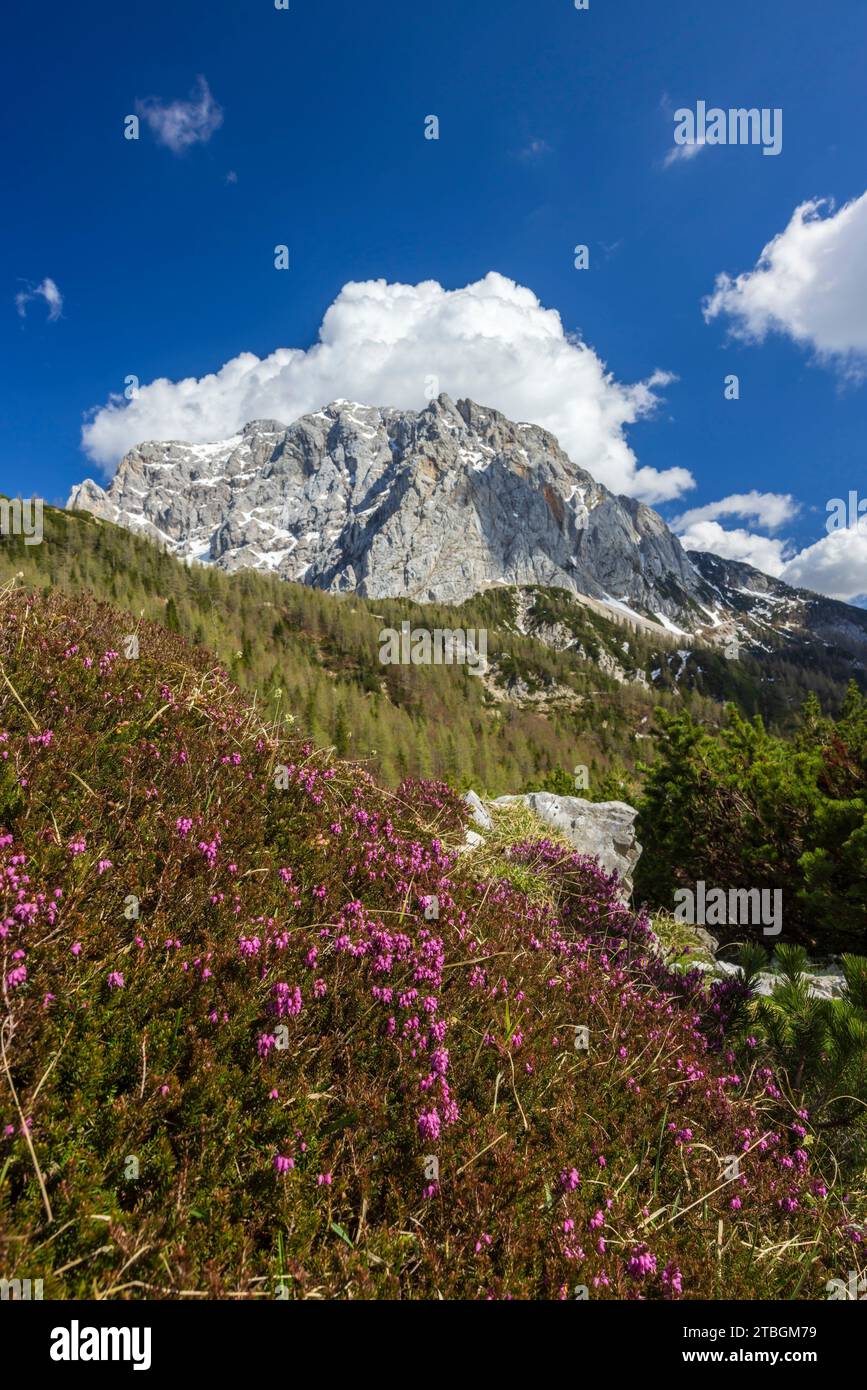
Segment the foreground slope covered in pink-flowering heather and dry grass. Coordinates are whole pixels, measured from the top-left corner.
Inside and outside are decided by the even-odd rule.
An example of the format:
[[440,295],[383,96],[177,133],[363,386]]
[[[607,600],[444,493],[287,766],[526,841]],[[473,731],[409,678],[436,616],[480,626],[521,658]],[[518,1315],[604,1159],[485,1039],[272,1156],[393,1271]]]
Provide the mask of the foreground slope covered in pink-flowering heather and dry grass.
[[381,790],[126,626],[0,603],[7,1277],[817,1298],[863,1265],[863,1195],[734,1051],[738,984],[670,973],[525,824],[461,853],[447,788]]

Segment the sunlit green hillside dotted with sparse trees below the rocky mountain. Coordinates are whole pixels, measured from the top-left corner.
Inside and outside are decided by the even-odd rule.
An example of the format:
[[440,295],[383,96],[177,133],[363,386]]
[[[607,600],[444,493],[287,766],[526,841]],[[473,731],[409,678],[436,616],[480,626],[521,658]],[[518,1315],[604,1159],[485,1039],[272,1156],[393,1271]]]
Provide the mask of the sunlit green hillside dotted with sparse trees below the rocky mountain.
[[[684,663],[677,641],[657,644],[606,621],[564,591],[524,591],[524,635],[514,589],[424,609],[329,595],[251,571],[188,567],[110,523],[50,507],[42,545],[0,541],[0,581],[15,574],[38,589],[92,592],[135,616],[129,631],[139,617],[164,623],[257,691],[268,717],[364,759],[390,784],[436,776],[496,795],[559,777],[563,790],[585,764],[589,795],[606,795],[618,777],[629,784],[647,756],[643,735],[657,706],[688,708],[716,724],[718,702],[732,699],[748,713],[788,720],[809,688],[831,706],[842,695],[821,673],[793,671],[779,657],[768,657],[775,664],[767,673],[710,651]],[[378,632],[404,619],[486,628],[490,678],[461,667],[382,666]],[[570,641],[581,652],[556,649]],[[653,689],[632,682],[654,670]]]

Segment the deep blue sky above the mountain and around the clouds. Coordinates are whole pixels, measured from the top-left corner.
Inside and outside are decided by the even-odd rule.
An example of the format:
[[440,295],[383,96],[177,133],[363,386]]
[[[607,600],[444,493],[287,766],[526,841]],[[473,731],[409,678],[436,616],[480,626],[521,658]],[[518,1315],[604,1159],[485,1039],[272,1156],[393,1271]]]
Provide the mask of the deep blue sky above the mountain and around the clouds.
[[[831,307],[810,295],[789,304],[785,267],[768,286],[784,296],[782,331],[775,320],[763,336],[763,285],[731,293],[710,321],[702,313],[717,277],[753,271],[799,206],[834,199],[816,214],[834,218],[864,195],[861,0],[591,0],[588,11],[572,0],[290,0],[288,11],[83,0],[18,7],[6,39],[6,492],[61,500],[85,475],[104,481],[82,423],[131,374],[176,382],[239,353],[308,349],[350,281],[453,292],[495,271],[559,311],[616,382],[677,378],[625,424],[639,467],[695,480],[660,503],[667,518],[752,491],[792,496],[799,510],[782,507],[775,530],[773,506],[764,527],[735,512],[711,523],[775,537],[782,573],[824,537],[829,498],[867,495],[867,285],[842,222],[816,263],[842,275],[845,313],[839,295]],[[146,110],[136,103],[189,100],[199,75],[214,129],[175,152],[142,114],[140,139],[124,139],[124,117]],[[697,100],[782,108],[781,154],[707,147],[666,165],[672,113]],[[438,140],[424,138],[428,114]],[[274,268],[278,243],[286,272]],[[586,271],[574,267],[578,243]],[[474,393],[453,379],[460,359],[449,363],[443,389]],[[724,399],[728,373],[736,402]],[[329,395],[352,395],[353,379]],[[771,552],[750,553],[771,567]],[[867,589],[852,577],[867,549],[849,546],[843,578],[820,559],[829,592]],[[786,577],[818,584],[823,564]]]

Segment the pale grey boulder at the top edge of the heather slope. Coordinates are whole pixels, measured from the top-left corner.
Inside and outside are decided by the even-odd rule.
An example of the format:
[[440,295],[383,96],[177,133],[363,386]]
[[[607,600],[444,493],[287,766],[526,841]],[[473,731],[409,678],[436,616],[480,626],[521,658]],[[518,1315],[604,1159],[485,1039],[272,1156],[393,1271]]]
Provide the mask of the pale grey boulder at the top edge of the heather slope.
[[584,801],[581,796],[556,796],[531,791],[524,796],[497,796],[493,806],[522,801],[539,820],[563,835],[578,853],[593,855],[606,873],[621,877],[625,897],[632,895],[632,874],[641,858],[635,838],[638,812],[624,801]]

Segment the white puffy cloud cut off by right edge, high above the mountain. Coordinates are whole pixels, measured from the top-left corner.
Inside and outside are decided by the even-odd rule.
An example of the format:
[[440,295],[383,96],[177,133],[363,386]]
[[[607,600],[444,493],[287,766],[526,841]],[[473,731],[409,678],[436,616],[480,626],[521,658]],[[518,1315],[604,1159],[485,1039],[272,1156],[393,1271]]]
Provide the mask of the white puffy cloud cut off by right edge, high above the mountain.
[[867,368],[867,193],[839,211],[825,199],[795,208],[789,225],[754,268],[717,277],[703,304],[707,321],[727,316],[732,332],[763,342],[786,334],[820,360],[853,375]]

